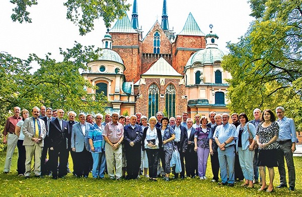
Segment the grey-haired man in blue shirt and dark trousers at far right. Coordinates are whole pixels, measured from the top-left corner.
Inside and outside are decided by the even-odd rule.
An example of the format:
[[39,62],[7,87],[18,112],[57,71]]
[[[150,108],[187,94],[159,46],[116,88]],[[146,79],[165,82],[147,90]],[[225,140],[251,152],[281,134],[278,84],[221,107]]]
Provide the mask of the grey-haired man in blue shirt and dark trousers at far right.
[[287,187],[284,167],[284,157],[288,169],[288,184],[289,190],[293,191],[295,186],[295,170],[293,165],[292,153],[295,151],[295,143],[297,141],[294,121],[284,115],[284,108],[277,107],[276,113],[278,116],[277,123],[279,124],[278,143],[278,171],[280,174],[280,185],[277,188]]

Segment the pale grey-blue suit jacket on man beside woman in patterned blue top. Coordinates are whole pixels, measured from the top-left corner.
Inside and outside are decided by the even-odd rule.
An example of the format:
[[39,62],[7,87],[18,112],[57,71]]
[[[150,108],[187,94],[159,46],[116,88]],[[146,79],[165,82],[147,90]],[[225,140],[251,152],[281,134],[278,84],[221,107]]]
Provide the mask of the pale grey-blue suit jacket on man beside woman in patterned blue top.
[[81,128],[81,122],[73,124],[71,132],[71,148],[75,148],[75,152],[82,152],[84,148],[89,151],[88,133],[91,126],[91,123],[85,122],[86,132],[84,135]]

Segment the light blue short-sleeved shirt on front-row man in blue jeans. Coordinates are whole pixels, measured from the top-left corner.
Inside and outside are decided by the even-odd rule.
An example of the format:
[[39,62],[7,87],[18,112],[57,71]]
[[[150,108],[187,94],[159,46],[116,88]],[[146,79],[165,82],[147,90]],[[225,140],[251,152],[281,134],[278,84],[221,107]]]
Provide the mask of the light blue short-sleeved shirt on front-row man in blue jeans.
[[229,147],[231,145],[235,145],[235,140],[238,138],[236,126],[234,124],[230,124],[229,122],[226,124],[222,124],[216,127],[214,138],[218,138],[220,143],[225,142],[230,137],[234,137],[234,139],[225,147]]

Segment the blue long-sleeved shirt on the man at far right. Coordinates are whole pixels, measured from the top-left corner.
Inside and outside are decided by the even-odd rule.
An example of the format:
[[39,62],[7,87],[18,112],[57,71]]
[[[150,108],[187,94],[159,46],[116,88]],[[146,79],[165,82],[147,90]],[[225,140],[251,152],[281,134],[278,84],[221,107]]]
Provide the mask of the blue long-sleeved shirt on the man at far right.
[[276,122],[279,125],[279,138],[277,141],[291,140],[292,143],[297,141],[293,119],[284,116]]

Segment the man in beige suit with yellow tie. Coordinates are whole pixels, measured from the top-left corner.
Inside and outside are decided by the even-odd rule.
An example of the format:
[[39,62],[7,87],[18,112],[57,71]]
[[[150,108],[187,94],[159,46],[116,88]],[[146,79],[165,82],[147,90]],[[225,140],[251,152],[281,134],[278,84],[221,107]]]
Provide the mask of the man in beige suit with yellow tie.
[[25,178],[30,176],[31,162],[34,155],[34,173],[36,177],[41,176],[41,154],[44,146],[43,140],[46,136],[46,127],[44,121],[39,119],[39,114],[39,107],[34,107],[32,117],[26,118],[23,124],[23,134],[25,136],[23,146],[26,150]]

